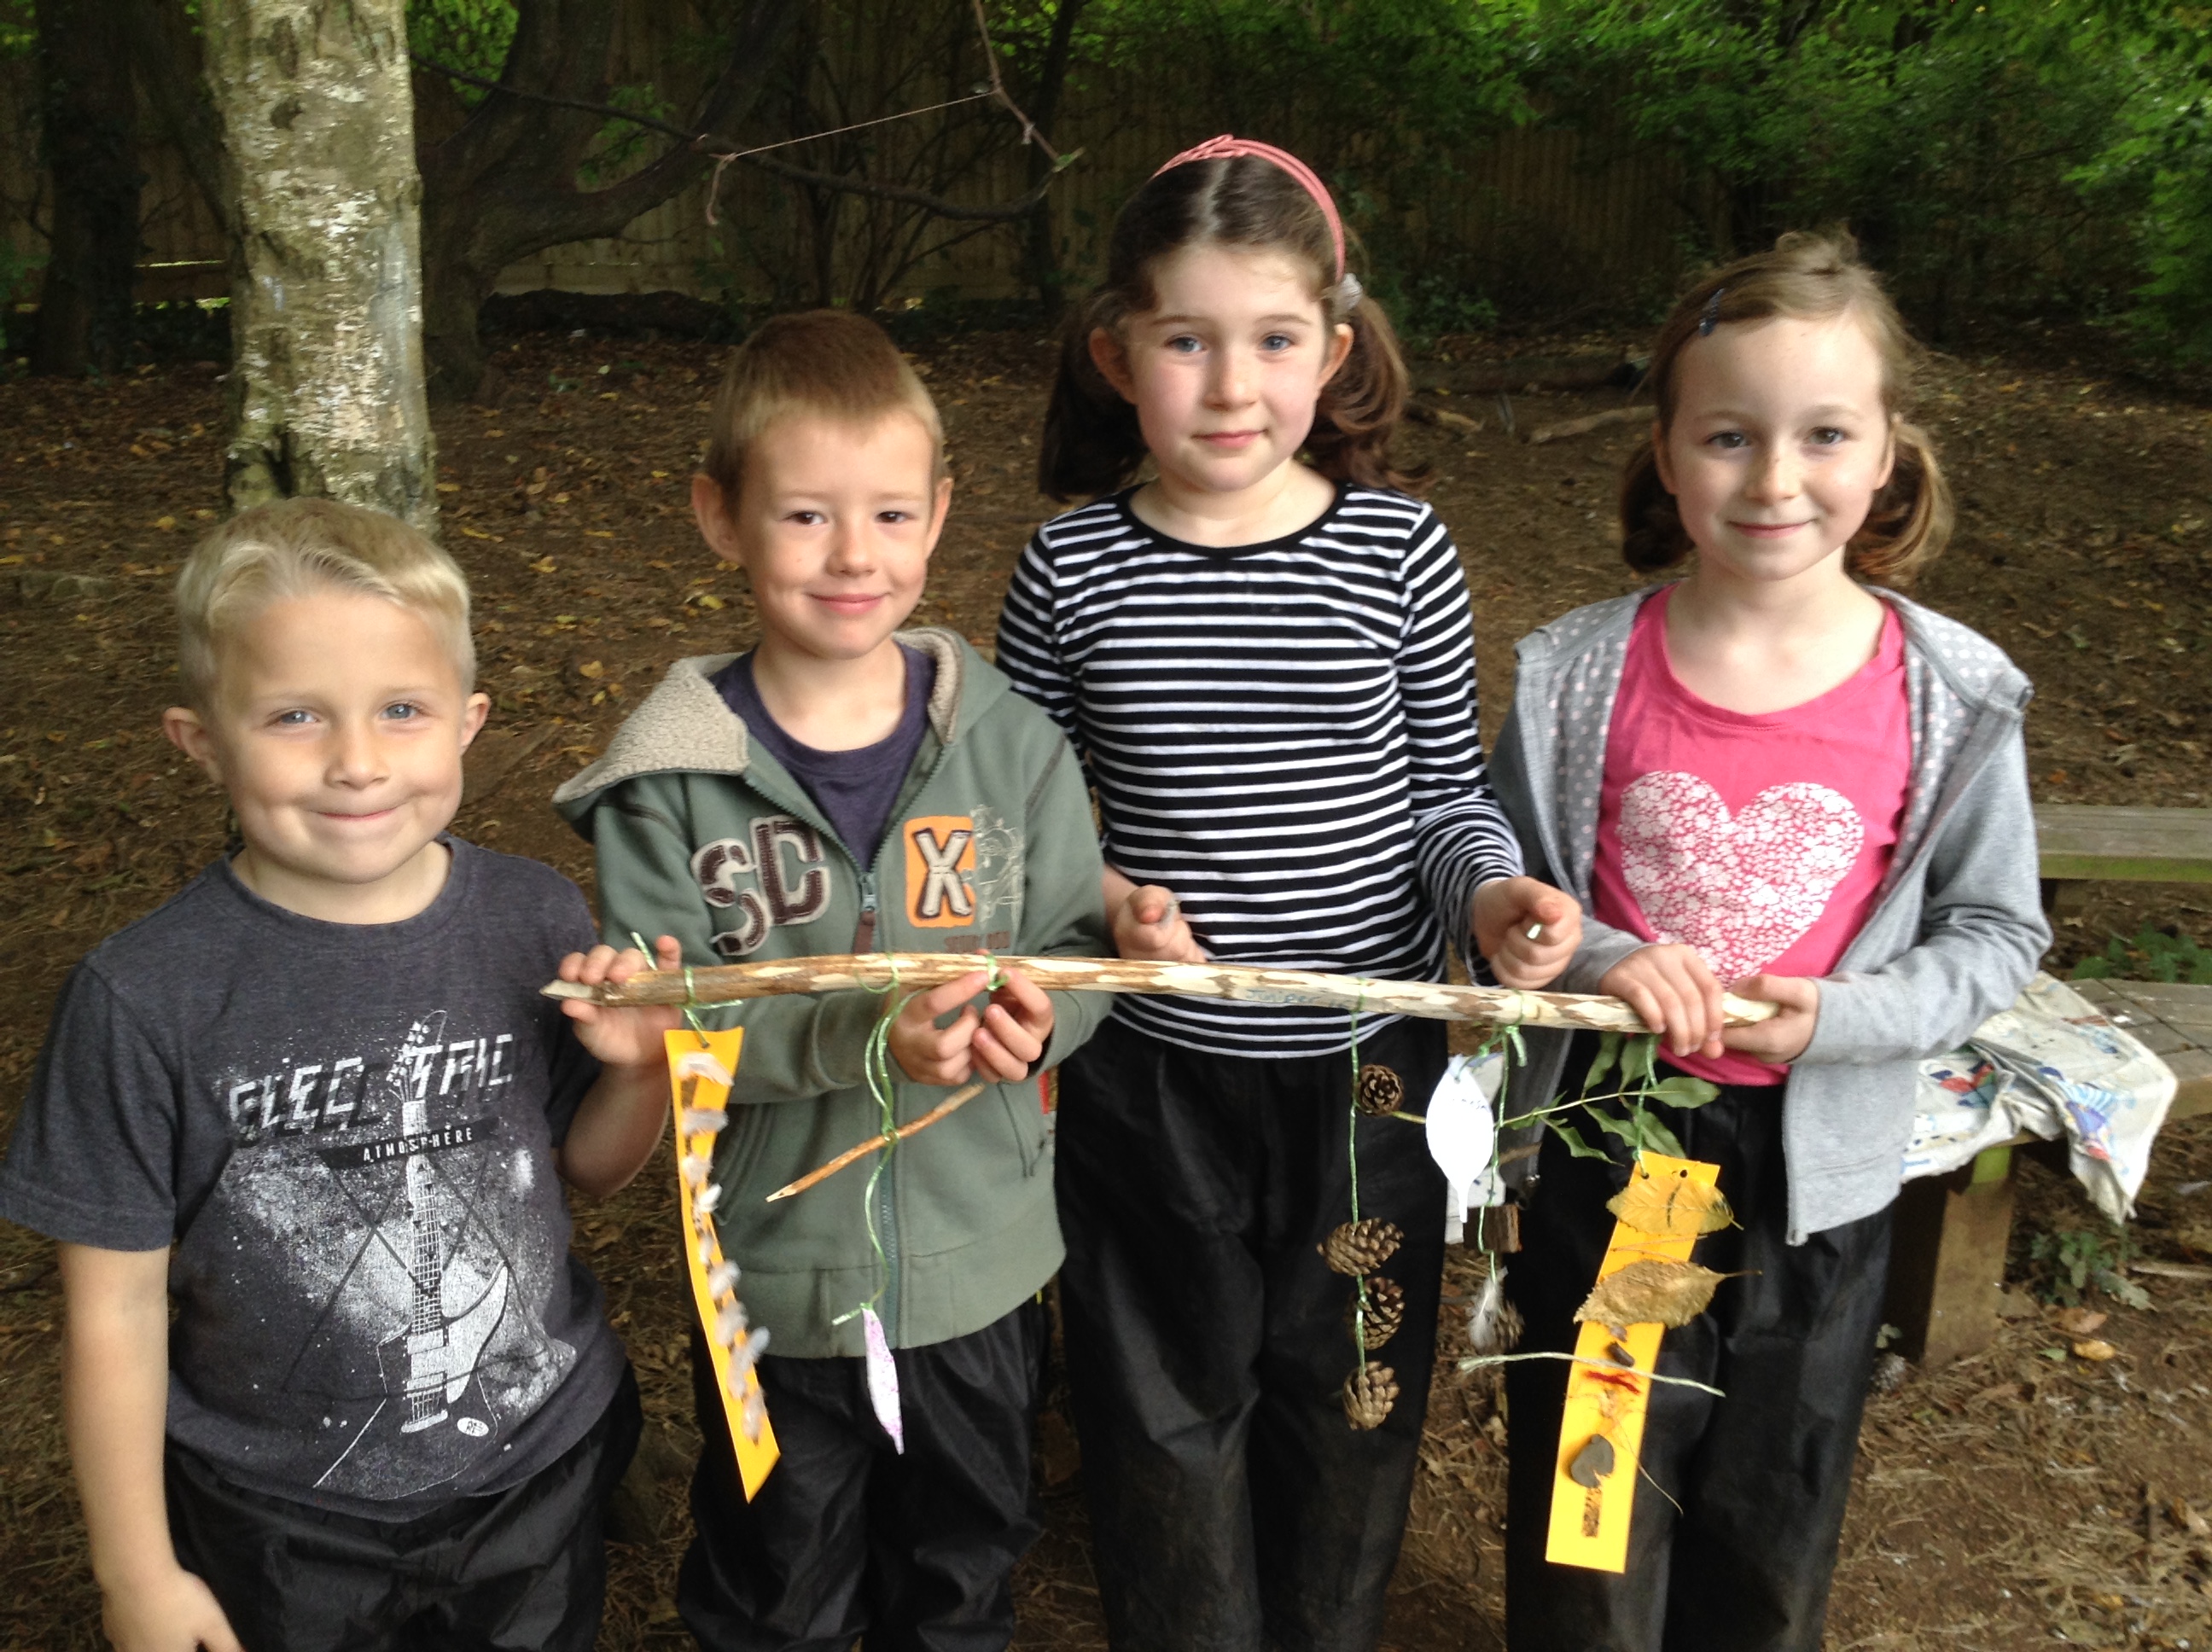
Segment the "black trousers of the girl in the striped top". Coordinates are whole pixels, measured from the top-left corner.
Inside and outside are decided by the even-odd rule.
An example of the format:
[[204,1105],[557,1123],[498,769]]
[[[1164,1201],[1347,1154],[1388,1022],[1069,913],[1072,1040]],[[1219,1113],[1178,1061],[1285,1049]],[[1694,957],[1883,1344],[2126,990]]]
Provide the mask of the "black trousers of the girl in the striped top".
[[[1444,1028],[1398,1022],[1360,1059],[1444,1070]],[[1352,1280],[1316,1254],[1349,1219],[1349,1057],[1186,1050],[1121,1022],[1062,1068],[1060,1303],[1093,1561],[1117,1652],[1365,1652],[1383,1630],[1429,1404],[1444,1179],[1422,1130],[1360,1119],[1360,1214],[1405,1230],[1383,1274],[1398,1376],[1360,1433]]]

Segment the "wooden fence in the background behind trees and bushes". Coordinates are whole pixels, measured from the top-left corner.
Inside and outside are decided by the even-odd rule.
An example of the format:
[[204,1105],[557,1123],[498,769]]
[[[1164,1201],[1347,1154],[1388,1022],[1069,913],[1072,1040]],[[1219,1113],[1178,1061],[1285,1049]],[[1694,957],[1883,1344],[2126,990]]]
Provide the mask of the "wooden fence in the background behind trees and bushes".
[[[865,0],[863,0],[865,2]],[[684,86],[670,86],[670,51],[684,29],[697,27],[688,0],[630,0],[615,42],[613,80],[655,82],[681,104]],[[854,51],[854,49],[847,49]],[[677,69],[677,73],[684,73]],[[909,93],[914,102],[929,102]],[[1079,148],[1082,159],[1051,195],[1053,237],[1060,265],[1086,279],[1099,263],[1102,239],[1119,201],[1177,148],[1210,135],[1203,115],[1188,111],[1172,88],[1126,84],[1099,75],[1071,95],[1060,119],[1060,148]],[[894,102],[894,108],[911,102]],[[13,135],[0,150],[0,245],[22,270],[44,257],[40,230],[46,188],[38,170],[35,86],[29,64],[0,71],[0,135]],[[960,111],[973,122],[984,106]],[[938,117],[942,119],[942,117]],[[951,188],[958,199],[998,201],[1026,186],[1024,153],[1011,142],[1011,117],[1000,148],[971,177]],[[1197,124],[1194,124],[1197,122]],[[920,122],[911,137],[920,135]],[[1296,142],[1296,135],[1267,133]],[[900,130],[887,128],[883,155],[896,157]],[[661,139],[653,139],[659,144]],[[772,142],[761,137],[757,142]],[[818,150],[812,150],[818,153]],[[807,148],[792,150],[796,159]],[[1575,303],[1621,303],[1668,290],[1683,259],[1683,245],[1699,226],[1699,199],[1686,186],[1679,164],[1661,153],[1637,153],[1590,130],[1533,126],[1502,133],[1478,148],[1444,157],[1433,199],[1402,212],[1389,226],[1391,243],[1451,245],[1453,279],[1524,307],[1564,310]],[[228,292],[221,228],[195,190],[181,157],[159,144],[142,153],[144,259],[139,296],[217,299]],[[706,181],[672,197],[628,226],[619,239],[546,248],[515,263],[500,279],[502,292],[555,287],[564,292],[684,292],[708,299],[761,301],[779,294],[776,268],[805,261],[799,192],[783,181],[732,166],[721,184],[721,226],[706,221]],[[940,226],[945,232],[960,226]],[[1378,259],[1385,248],[1376,248]],[[832,263],[849,263],[847,252]],[[836,274],[836,272],[834,272]],[[1383,272],[1389,276],[1391,272]],[[841,276],[838,276],[841,279]],[[35,296],[35,279],[29,292]],[[956,245],[922,257],[885,294],[885,301],[920,301],[925,294],[998,299],[1022,292],[1020,230],[995,226],[971,232]],[[799,292],[796,296],[818,296]]]

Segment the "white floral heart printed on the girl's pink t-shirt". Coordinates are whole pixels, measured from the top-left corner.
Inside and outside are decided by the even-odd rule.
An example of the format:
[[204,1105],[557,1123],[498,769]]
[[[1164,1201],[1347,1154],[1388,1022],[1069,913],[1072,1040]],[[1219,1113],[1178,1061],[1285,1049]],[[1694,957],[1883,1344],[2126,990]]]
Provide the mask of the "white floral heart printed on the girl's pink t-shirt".
[[1694,774],[1621,792],[1621,874],[1652,933],[1697,947],[1723,982],[1756,975],[1812,929],[1867,827],[1840,792],[1770,785],[1730,818]]

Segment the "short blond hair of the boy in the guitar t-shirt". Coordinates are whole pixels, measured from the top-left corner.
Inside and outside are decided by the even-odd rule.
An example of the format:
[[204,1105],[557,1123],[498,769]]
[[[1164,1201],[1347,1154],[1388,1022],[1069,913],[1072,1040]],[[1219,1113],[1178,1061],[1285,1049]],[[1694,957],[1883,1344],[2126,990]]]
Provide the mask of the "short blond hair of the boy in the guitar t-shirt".
[[453,557],[394,515],[336,500],[276,500],[239,511],[201,540],[177,575],[177,675],[208,710],[223,644],[261,608],[316,590],[361,590],[420,615],[462,690],[476,688],[469,579]]

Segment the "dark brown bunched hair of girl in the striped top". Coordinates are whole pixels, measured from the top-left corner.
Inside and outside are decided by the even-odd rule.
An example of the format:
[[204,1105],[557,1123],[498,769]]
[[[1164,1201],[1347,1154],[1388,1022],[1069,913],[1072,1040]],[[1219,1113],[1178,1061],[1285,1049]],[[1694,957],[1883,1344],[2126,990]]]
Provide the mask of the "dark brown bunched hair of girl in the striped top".
[[1037,487],[1055,500],[1075,500],[1135,480],[1146,456],[1137,409],[1091,360],[1091,334],[1119,336],[1130,316],[1152,310],[1159,303],[1152,270],[1188,245],[1281,252],[1310,270],[1323,314],[1352,325],[1352,354],[1321,387],[1307,458],[1336,482],[1420,487],[1427,473],[1402,469],[1389,451],[1407,398],[1398,334],[1356,276],[1338,279],[1336,239],[1314,197],[1259,155],[1175,166],[1121,208],[1106,248],[1106,281],[1068,316],[1060,341]]

